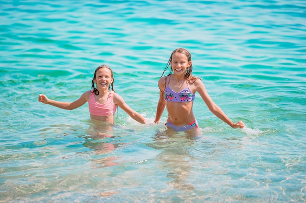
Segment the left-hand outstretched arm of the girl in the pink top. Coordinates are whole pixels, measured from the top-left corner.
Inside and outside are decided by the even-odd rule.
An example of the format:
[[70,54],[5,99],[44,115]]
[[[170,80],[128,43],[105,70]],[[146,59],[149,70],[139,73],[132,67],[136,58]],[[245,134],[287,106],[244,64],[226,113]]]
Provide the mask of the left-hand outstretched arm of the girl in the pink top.
[[61,109],[74,110],[84,105],[88,101],[89,97],[90,97],[90,91],[87,91],[87,92],[84,92],[79,99],[70,103],[70,102],[55,101],[55,100],[49,99],[44,94],[39,94],[38,101],[44,104],[49,104],[54,107],[61,108]]

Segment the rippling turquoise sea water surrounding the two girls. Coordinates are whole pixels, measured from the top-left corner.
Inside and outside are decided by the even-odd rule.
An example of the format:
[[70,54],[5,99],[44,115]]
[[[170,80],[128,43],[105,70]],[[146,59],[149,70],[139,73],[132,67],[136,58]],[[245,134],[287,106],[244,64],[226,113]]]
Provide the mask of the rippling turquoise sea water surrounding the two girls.
[[[0,202],[306,202],[304,0],[0,0]],[[187,48],[200,136],[157,133],[157,81]],[[37,101],[74,101],[94,69],[150,125],[117,127]],[[166,121],[164,112],[162,122]]]

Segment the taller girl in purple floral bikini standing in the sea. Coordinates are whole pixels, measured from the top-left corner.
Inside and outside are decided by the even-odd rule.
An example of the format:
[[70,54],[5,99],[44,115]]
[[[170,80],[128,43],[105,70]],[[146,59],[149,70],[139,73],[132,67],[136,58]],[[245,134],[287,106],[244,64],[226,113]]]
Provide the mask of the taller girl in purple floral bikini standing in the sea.
[[[163,76],[171,66],[170,74]],[[165,107],[168,111],[166,125],[175,131],[198,131],[197,119],[192,111],[195,93],[198,92],[203,101],[219,119],[232,128],[243,128],[242,121],[233,123],[206,92],[199,77],[192,74],[191,54],[184,48],[175,49],[167,66],[158,81],[159,101],[157,104],[155,123],[159,123]]]

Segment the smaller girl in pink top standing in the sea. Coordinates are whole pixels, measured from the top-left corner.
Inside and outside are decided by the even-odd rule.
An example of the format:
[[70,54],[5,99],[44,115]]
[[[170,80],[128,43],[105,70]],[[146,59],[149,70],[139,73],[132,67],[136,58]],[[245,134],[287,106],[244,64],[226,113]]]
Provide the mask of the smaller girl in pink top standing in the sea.
[[[129,107],[124,99],[113,90],[113,73],[107,65],[96,68],[91,81],[91,90],[84,92],[80,98],[73,102],[62,102],[48,99],[39,94],[38,101],[65,110],[73,110],[88,102],[90,119],[114,124],[114,113],[117,106],[125,111],[132,119],[145,124],[145,118]],[[96,101],[97,99],[97,101]]]

